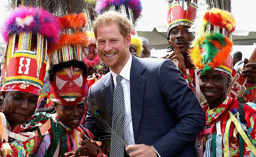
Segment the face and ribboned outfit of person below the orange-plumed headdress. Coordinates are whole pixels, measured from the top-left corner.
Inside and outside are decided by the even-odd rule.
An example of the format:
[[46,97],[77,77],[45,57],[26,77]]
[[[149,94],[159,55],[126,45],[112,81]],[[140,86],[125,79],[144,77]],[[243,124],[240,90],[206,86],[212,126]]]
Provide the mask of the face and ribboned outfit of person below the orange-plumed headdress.
[[[82,125],[79,125],[85,112],[83,102],[72,105],[54,102],[54,107],[39,109],[39,111],[56,112],[56,114],[51,115],[55,122],[48,130],[50,136],[44,137],[46,147],[41,145],[37,157],[68,157],[72,155],[106,157],[98,148],[101,142],[92,141],[94,136]],[[46,152],[45,148],[48,148]]]

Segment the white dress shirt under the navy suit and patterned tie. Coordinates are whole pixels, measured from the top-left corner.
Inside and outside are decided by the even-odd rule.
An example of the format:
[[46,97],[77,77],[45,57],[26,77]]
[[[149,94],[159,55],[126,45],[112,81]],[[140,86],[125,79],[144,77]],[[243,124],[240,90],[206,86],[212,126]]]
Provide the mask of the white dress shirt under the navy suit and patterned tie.
[[[133,121],[132,121],[132,112],[130,107],[130,68],[132,65],[132,56],[130,55],[129,60],[127,61],[126,65],[123,67],[119,75],[123,78],[121,80],[121,84],[123,86],[123,94],[124,94],[124,106],[125,106],[125,132],[124,138],[128,145],[135,144],[134,141],[134,134],[133,134]],[[117,84],[117,74],[113,71],[110,72],[113,76],[114,85]]]

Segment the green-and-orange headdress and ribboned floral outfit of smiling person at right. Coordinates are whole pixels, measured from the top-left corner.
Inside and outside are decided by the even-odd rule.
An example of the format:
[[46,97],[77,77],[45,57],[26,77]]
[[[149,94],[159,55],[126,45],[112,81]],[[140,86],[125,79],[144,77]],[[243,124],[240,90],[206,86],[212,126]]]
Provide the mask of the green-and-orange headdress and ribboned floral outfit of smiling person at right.
[[[233,61],[229,53],[233,44],[229,38],[213,32],[203,34],[194,44],[194,48],[190,50],[190,57],[198,73],[218,71],[229,78],[232,77]],[[214,53],[215,51],[217,54]],[[255,149],[255,143],[251,141],[256,140],[255,110],[244,105],[248,126],[245,129],[245,125],[238,118],[238,108],[238,101],[229,95],[214,109],[210,109],[208,103],[203,107],[206,127],[199,133],[196,142],[196,150],[200,157],[204,155],[239,157],[241,152],[244,156],[252,155],[251,148]]]

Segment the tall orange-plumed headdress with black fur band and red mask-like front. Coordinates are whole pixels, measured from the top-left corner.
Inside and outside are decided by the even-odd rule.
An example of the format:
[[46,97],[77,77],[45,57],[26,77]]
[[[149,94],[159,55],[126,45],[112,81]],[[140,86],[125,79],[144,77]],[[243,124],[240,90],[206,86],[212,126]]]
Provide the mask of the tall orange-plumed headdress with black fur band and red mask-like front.
[[[53,101],[72,105],[85,99],[87,66],[82,61],[83,47],[89,46],[86,3],[83,0],[57,1],[54,12],[59,16],[62,32],[57,45],[48,51],[50,91]],[[71,103],[72,102],[72,103]]]

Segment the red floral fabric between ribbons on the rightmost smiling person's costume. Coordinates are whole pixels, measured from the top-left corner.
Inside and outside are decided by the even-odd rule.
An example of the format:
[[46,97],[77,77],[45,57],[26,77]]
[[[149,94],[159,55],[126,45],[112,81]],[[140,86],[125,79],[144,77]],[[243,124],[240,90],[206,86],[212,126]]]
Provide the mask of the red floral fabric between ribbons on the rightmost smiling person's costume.
[[[221,103],[215,109],[208,109],[208,104],[206,104],[206,106],[203,107],[204,114],[206,115],[206,127],[204,130],[208,130],[208,127],[212,127],[212,126],[213,126],[213,129],[210,132],[207,132],[207,134],[205,134],[205,135],[202,134],[202,132],[204,132],[204,130],[201,132],[201,134],[199,133],[199,137],[200,137],[198,139],[199,142],[201,142],[200,139],[206,138],[209,133],[217,132],[216,123],[218,121],[221,122],[222,135],[224,135],[224,130],[226,128],[226,121],[229,120],[229,118],[230,118],[228,111],[232,111],[234,108],[238,109],[238,101],[235,100],[234,98],[232,99],[232,101],[229,101],[229,100],[230,99],[227,98],[223,103]],[[256,111],[247,105],[245,105],[244,107],[245,107],[245,119],[246,119],[247,125],[248,125],[247,135],[249,136],[251,141],[254,141],[256,139],[256,124],[255,124],[255,121],[256,121],[255,112]],[[219,110],[217,111],[217,109],[219,109]],[[210,113],[210,111],[212,113]],[[221,113],[221,114],[219,114],[219,113]],[[217,115],[217,114],[219,114],[219,115]],[[210,119],[209,119],[209,116],[211,116]],[[238,132],[236,132],[234,134],[234,130],[235,130],[235,125],[233,122],[231,122],[231,126],[229,128],[229,154],[232,157],[239,157],[240,153],[241,153],[239,150],[239,148],[240,148],[239,147],[239,136],[238,136]],[[224,137],[222,140],[224,140]],[[205,148],[205,143],[201,143],[201,144],[203,144],[203,148]],[[199,147],[199,148],[201,148],[201,147]],[[223,142],[222,142],[222,148],[224,148]],[[251,151],[247,148],[246,143],[244,143],[242,154],[244,157],[249,157],[249,155],[251,154]],[[222,154],[222,157],[223,156],[224,156],[224,153]]]

